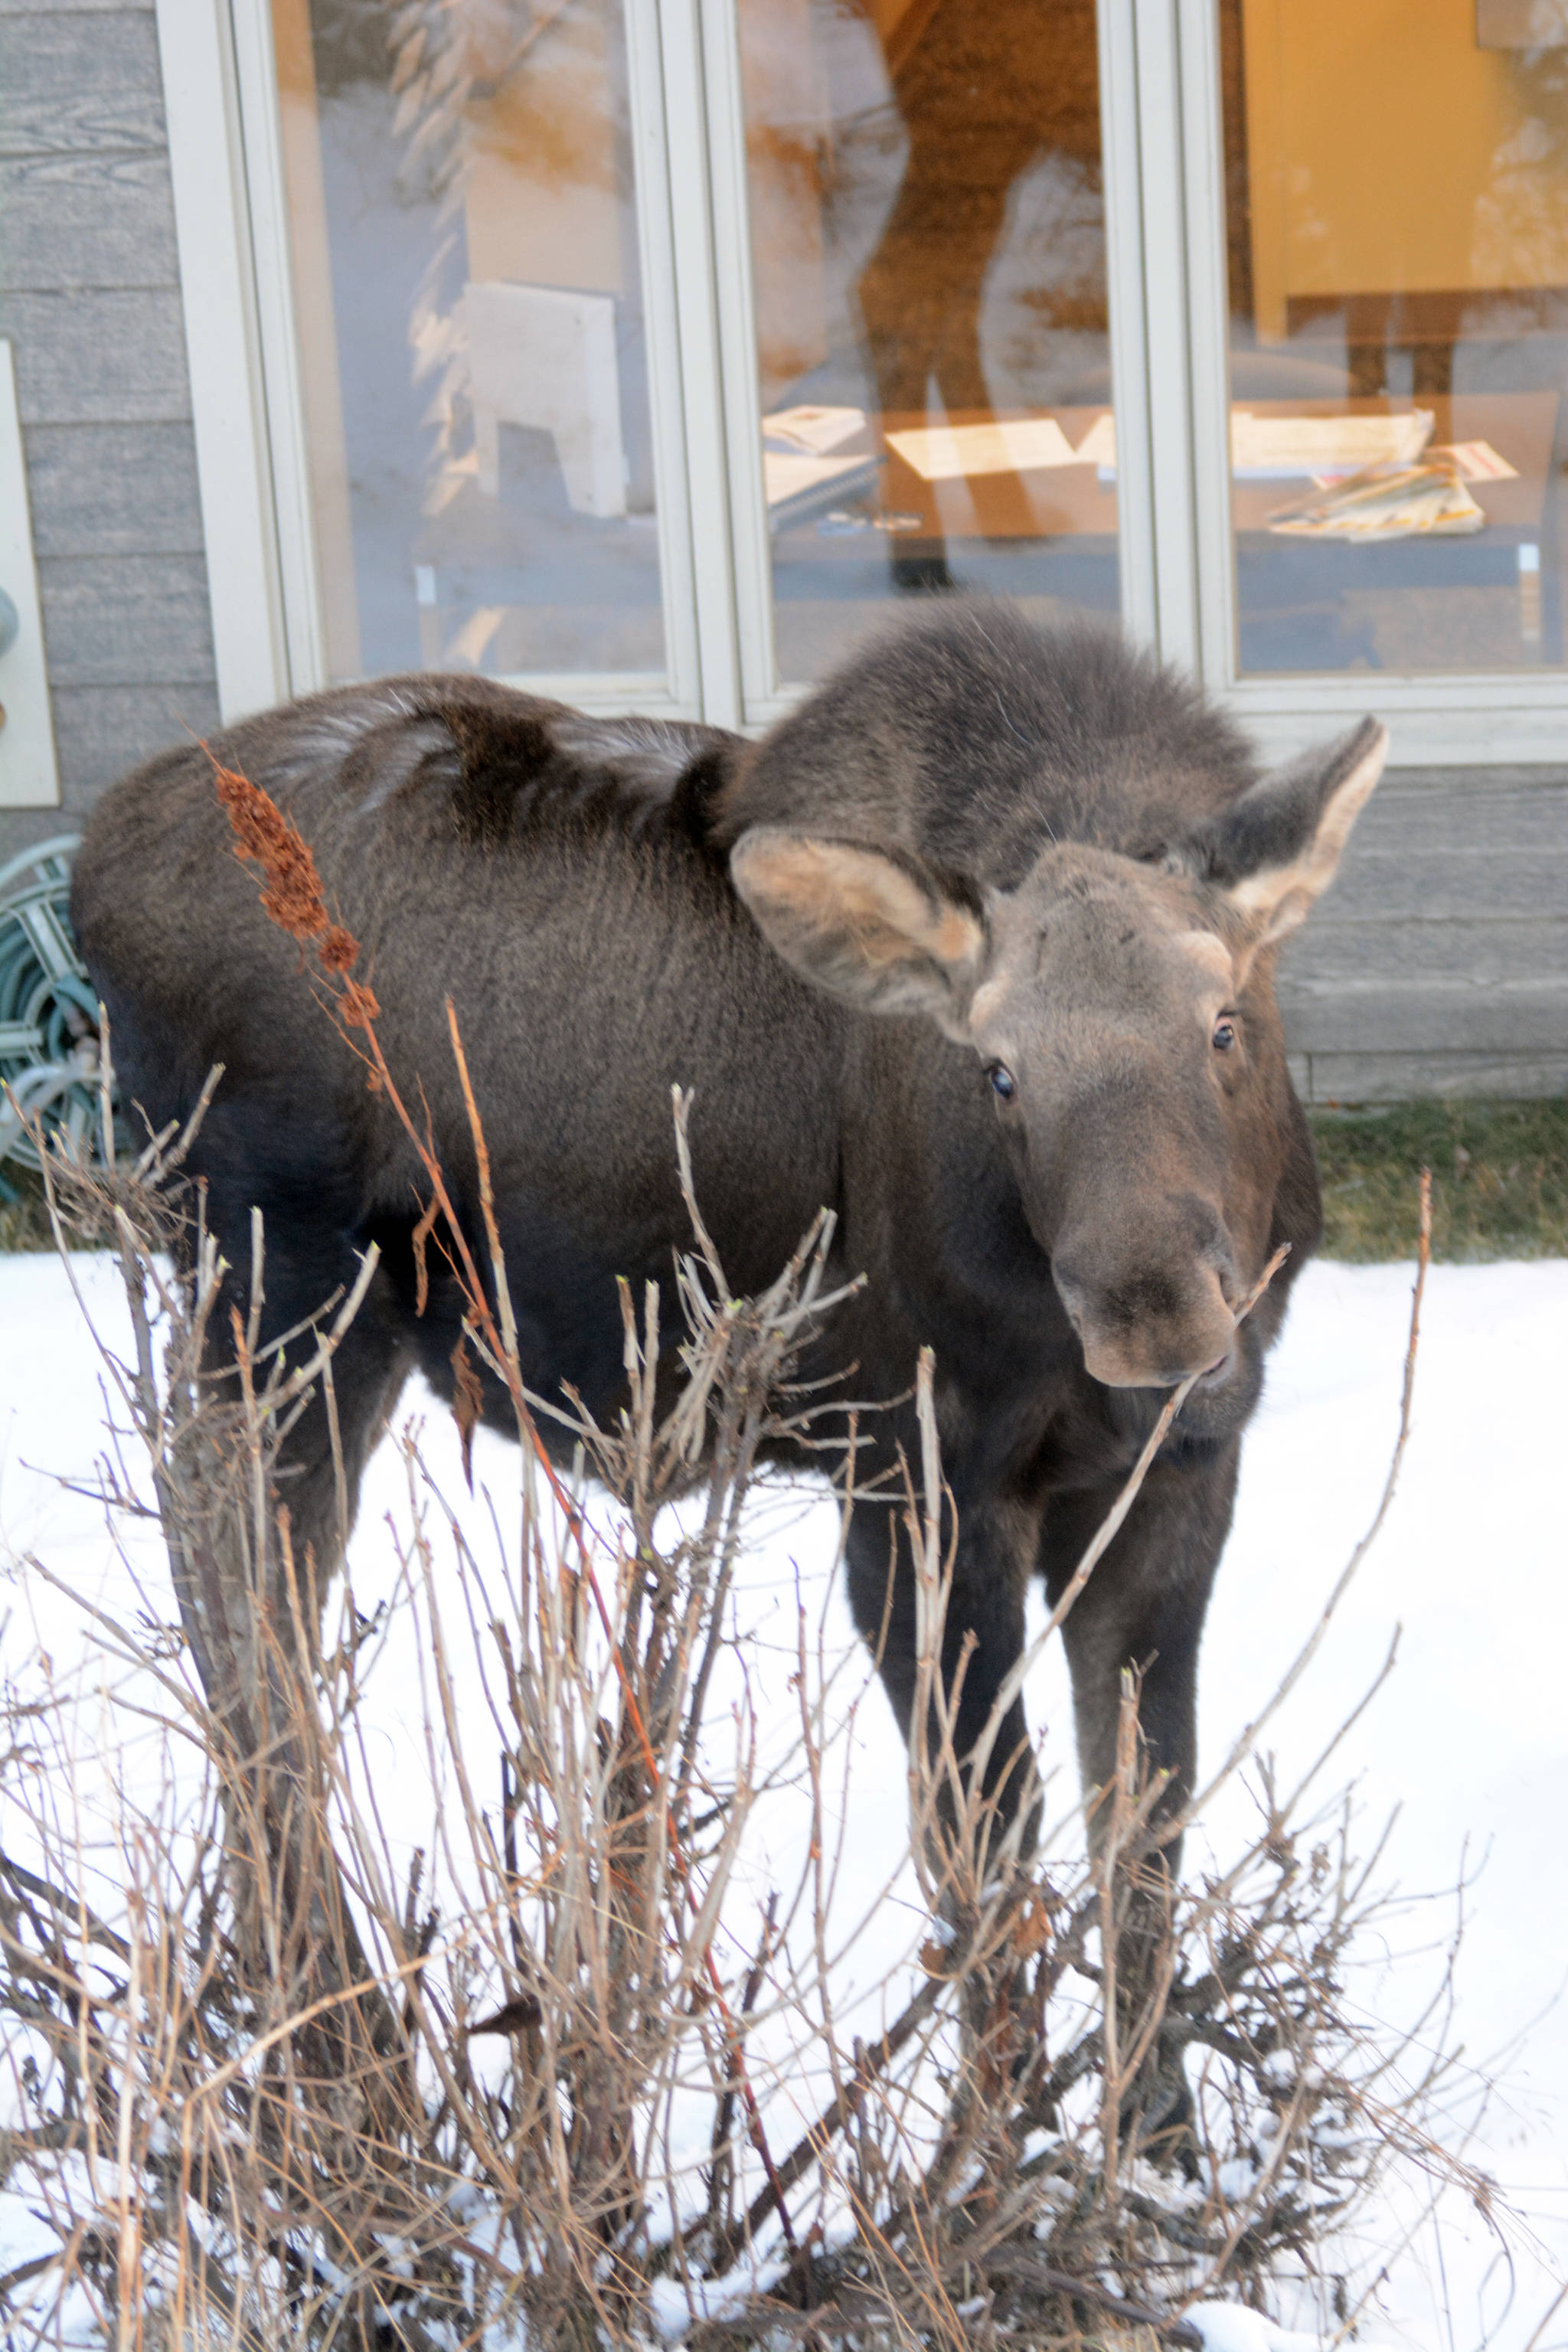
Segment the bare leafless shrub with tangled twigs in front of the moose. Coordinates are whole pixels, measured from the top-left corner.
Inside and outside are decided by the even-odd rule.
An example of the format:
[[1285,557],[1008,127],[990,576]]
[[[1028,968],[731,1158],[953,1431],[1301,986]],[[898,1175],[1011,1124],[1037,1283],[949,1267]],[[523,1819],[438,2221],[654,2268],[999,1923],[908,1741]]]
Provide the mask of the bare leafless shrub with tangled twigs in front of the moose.
[[[360,1014],[374,1058],[367,993]],[[733,1637],[759,1463],[823,1406],[792,1362],[835,1308],[827,1221],[733,1298],[691,1202],[675,1404],[656,1294],[625,1296],[630,1409],[569,1428],[574,1477],[538,1442],[491,1225],[489,1282],[458,1270],[522,1442],[510,1529],[496,1515],[482,1552],[404,1435],[393,1599],[362,1613],[343,1585],[317,1644],[277,1449],[329,1392],[355,1298],[261,1348],[256,1232],[237,1369],[214,1369],[223,1270],[181,1190],[186,1143],[47,1162],[61,1242],[99,1235],[125,1275],[134,1348],[103,1362],[141,1468],[110,1461],[103,1496],[158,1519],[176,1623],[150,1592],[129,1625],[89,1611],[141,1740],[134,1776],[110,1748],[92,1802],[68,1717],[12,1691],[0,2159],[52,2244],[0,2296],[33,2340],[1194,2343],[1194,2298],[1262,2305],[1288,2281],[1347,2321],[1335,2232],[1387,2166],[1488,2194],[1434,2136],[1441,2060],[1387,2046],[1345,1997],[1375,1919],[1347,1818],[1302,1820],[1260,1769],[1248,1849],[1173,1889],[1128,1682],[1093,1863],[1072,1823],[1034,1851],[999,1837],[936,1672],[929,1364],[905,1491],[856,1494],[853,1416],[839,1465],[846,1510],[910,1522],[931,1726],[910,1752],[929,1926],[884,1987],[891,2020],[844,2013],[827,1773],[853,1700],[802,1616],[780,1743]],[[475,1148],[484,1164],[477,1110]],[[1406,1428],[1413,1357],[1415,1329]],[[473,1399],[458,1418],[468,1442]],[[397,1623],[437,1804],[423,1849],[364,1729]],[[759,1896],[748,1832],[778,1790],[811,1839]],[[1135,1985],[1128,1917],[1157,1929]],[[1147,2096],[1173,2077],[1175,2124]]]

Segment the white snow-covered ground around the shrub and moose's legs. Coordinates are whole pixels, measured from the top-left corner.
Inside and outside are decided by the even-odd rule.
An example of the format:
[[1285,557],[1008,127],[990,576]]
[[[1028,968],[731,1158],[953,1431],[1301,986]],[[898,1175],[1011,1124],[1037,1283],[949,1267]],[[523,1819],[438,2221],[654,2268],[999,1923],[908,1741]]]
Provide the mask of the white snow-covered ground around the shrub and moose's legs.
[[[113,1268],[78,1258],[75,1270],[101,1329],[120,1343]],[[1399,1421],[1408,1298],[1410,1268],[1401,1265],[1312,1265],[1298,1284],[1248,1437],[1204,1649],[1208,1762],[1267,1698],[1373,1515]],[[414,1392],[400,1421],[407,1414],[425,1416],[425,1456],[442,1491],[456,1496],[456,1442],[444,1416]],[[99,1362],[61,1268],[52,1258],[0,1258],[0,1573],[5,1562],[33,1555],[127,1609],[101,1510],[59,1484],[89,1477],[103,1418]],[[1366,2333],[1427,2352],[1568,2345],[1568,2300],[1552,2312],[1568,2277],[1566,1428],[1568,1263],[1434,1268],[1399,1496],[1309,1675],[1267,1731],[1279,1778],[1291,1785],[1373,1684],[1401,1628],[1392,1675],[1321,1783],[1326,1792],[1356,1783],[1363,1853],[1396,1811],[1378,1879],[1427,1898],[1394,1915],[1385,1959],[1356,1994],[1373,2018],[1408,2023],[1420,2011],[1455,1924],[1453,1886],[1465,1875],[1450,2039],[1474,2072],[1460,2072],[1453,2110],[1458,2122],[1469,2110],[1467,2154],[1497,2178],[1516,2216],[1505,2251],[1453,2194],[1408,2241],[1408,2216],[1387,2213],[1387,2279]],[[489,1479],[498,1496],[515,1491],[498,1439],[480,1439],[475,1468],[480,1486]],[[388,1512],[407,1517],[407,1472],[393,1444],[371,1465],[355,1536],[362,1592],[376,1590],[378,1557],[388,1555]],[[780,1656],[795,1639],[797,1590],[820,1590],[832,1548],[835,1515],[823,1501],[771,1505],[752,1576],[764,1621],[769,1604],[778,1609]],[[150,1534],[136,1531],[129,1552],[158,1592]],[[827,1611],[830,1646],[849,1646],[837,1597],[827,1597]],[[7,1670],[42,1649],[63,1677],[80,1649],[68,1606],[38,1576],[14,1573],[0,1585],[0,1632]],[[792,1705],[783,1672],[776,1682],[778,1703]],[[766,1684],[764,1672],[759,1689]],[[395,1773],[407,1748],[395,1675],[386,1689],[393,1712],[371,1738],[383,1738]],[[371,1715],[374,1705],[371,1689]],[[1030,1710],[1034,1722],[1065,1724],[1058,1656],[1039,1670]],[[85,1750],[101,1722],[89,1700]],[[856,1750],[842,1884],[846,1900],[860,1903],[889,1877],[889,1825],[905,1804],[903,1752],[877,1693],[858,1710]],[[1056,1752],[1067,1755],[1070,1743],[1058,1740]],[[1065,1792],[1060,1773],[1056,1795]],[[1246,1783],[1234,1780],[1204,1835],[1215,1853],[1232,1853],[1248,1820]],[[860,1980],[875,1980],[917,1929],[905,1879],[858,1957]],[[1486,2077],[1495,2091],[1476,2122]],[[12,2244],[21,2244],[14,2225],[12,2201],[0,2201],[0,2272]]]

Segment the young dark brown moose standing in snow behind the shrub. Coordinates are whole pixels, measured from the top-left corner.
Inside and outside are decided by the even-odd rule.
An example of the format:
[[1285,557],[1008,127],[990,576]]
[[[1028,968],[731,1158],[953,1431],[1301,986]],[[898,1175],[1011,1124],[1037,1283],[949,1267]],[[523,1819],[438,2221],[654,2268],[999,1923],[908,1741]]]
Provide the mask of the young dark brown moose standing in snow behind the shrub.
[[[247,720],[212,753],[310,842],[487,1263],[454,1000],[536,1392],[569,1383],[616,1414],[616,1275],[661,1282],[675,1315],[675,1082],[696,1091],[696,1195],[738,1289],[837,1211],[839,1270],[870,1279],[804,1376],[853,1364],[858,1399],[898,1399],[936,1350],[947,1668],[976,1644],[961,1752],[1020,1653],[1030,1576],[1060,1592],[1168,1388],[1201,1374],[1065,1623],[1086,1783],[1112,1771],[1135,1665],[1180,1802],[1241,1432],[1319,1237],[1274,950],[1333,880],[1385,743],[1368,720],[1260,776],[1222,715],[1112,637],[950,604],[759,746],[402,677]],[[73,920],[155,1124],[223,1063],[195,1169],[233,1265],[252,1204],[266,1216],[268,1334],[381,1247],[336,1369],[353,1494],[407,1371],[451,1395],[461,1296],[437,1279],[416,1312],[418,1162],[261,913],[207,750],[103,800]],[[1284,1272],[1237,1327],[1281,1242]],[[917,1458],[907,1404],[865,1430],[882,1463],[898,1444]],[[292,1439],[289,1503],[324,1571],[320,1411]],[[856,1515],[849,1590],[907,1731],[914,1592],[896,1559],[889,1599],[889,1519]],[[1013,1705],[994,1773],[1023,1738]],[[1004,1806],[1020,1785],[1011,1771]]]

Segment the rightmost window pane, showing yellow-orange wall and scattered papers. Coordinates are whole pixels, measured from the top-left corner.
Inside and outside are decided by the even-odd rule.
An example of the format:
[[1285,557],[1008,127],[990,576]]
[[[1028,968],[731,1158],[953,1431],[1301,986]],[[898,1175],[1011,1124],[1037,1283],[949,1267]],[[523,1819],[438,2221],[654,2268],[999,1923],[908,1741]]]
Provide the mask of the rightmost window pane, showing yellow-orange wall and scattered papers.
[[1222,35],[1241,670],[1561,666],[1568,5]]

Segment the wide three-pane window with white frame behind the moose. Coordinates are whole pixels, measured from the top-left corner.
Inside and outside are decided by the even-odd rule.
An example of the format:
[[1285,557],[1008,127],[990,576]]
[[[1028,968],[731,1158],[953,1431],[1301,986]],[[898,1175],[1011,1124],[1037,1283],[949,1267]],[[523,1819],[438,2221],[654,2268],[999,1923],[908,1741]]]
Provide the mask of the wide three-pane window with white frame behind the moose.
[[1559,757],[1540,14],[160,0],[226,708],[440,663],[762,724],[957,586],[1272,750]]

